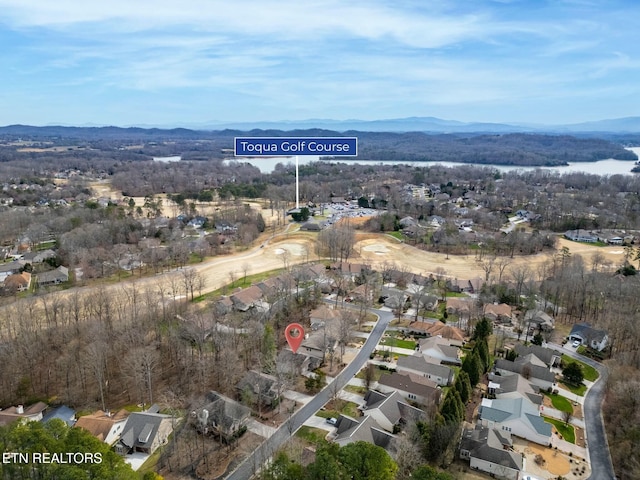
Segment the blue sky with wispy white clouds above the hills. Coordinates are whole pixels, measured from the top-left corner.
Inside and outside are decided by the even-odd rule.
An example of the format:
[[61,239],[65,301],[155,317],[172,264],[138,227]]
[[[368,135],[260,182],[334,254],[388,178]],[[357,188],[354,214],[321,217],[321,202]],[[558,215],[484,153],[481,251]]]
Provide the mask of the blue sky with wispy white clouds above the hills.
[[636,0],[0,0],[0,125],[640,115]]

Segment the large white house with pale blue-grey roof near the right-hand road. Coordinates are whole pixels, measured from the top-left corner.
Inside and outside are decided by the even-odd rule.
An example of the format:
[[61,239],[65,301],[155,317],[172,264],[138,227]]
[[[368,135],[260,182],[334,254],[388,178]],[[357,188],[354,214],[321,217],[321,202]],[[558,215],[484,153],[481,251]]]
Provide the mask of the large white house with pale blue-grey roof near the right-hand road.
[[483,398],[478,409],[479,423],[540,445],[551,445],[551,424],[540,416],[539,407],[522,396]]

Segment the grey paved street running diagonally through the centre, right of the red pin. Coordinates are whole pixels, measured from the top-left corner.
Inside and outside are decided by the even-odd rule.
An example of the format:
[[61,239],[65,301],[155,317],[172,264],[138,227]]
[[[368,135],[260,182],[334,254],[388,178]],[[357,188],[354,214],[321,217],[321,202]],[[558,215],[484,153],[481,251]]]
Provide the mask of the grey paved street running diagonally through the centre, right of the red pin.
[[378,315],[378,322],[371,331],[365,344],[358,355],[349,365],[320,393],[318,393],[309,403],[294,413],[289,420],[283,423],[280,428],[255,451],[253,451],[233,472],[227,475],[227,480],[248,480],[273,456],[273,454],[302,426],[302,424],[314,415],[322,406],[327,403],[334,392],[341,390],[351,378],[365,365],[369,355],[378,345],[382,334],[393,320],[391,312],[375,311]]

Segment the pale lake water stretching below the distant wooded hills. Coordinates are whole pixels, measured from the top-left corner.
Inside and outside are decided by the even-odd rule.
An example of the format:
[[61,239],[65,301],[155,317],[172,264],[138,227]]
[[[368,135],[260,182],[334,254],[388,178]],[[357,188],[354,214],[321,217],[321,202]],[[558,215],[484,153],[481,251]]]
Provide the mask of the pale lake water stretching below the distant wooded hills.
[[[628,150],[633,151],[640,158],[640,147],[632,147]],[[300,156],[298,157],[299,165],[305,165],[311,162],[317,162],[320,157],[317,155]],[[267,157],[267,158],[239,158],[237,160],[230,160],[231,162],[237,161],[240,163],[250,163],[251,165],[258,167],[263,173],[272,172],[278,163],[282,164],[295,164],[295,157]],[[556,171],[558,173],[573,173],[583,172],[594,175],[632,175],[631,169],[634,167],[634,162],[629,160],[614,160],[606,159],[599,160],[597,162],[578,162],[570,163],[569,165],[562,167],[521,167],[515,165],[480,165],[476,163],[463,164],[454,162],[395,162],[395,161],[363,161],[363,160],[340,160],[331,161],[334,163],[345,163],[347,165],[411,165],[415,167],[426,167],[430,165],[443,165],[445,167],[457,167],[460,165],[475,165],[478,167],[491,167],[501,172],[513,172],[513,171],[529,171],[535,169],[543,169]]]

